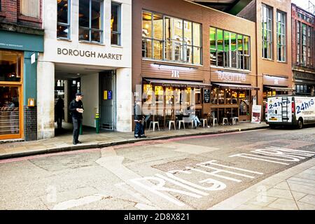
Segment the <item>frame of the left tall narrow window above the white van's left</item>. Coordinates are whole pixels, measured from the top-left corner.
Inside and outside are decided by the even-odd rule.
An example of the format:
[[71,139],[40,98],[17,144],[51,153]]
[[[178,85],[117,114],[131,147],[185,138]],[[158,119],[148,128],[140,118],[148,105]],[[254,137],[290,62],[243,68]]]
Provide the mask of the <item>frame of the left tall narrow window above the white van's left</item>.
[[[266,8],[266,14],[267,14],[267,18],[264,18],[264,8]],[[269,15],[270,18],[269,18]],[[262,3],[262,13],[261,13],[261,23],[262,23],[262,58],[263,59],[273,59],[273,8],[271,6],[268,6],[264,3]],[[266,20],[266,28],[264,28],[264,20]],[[268,22],[270,22],[270,29],[268,29]],[[267,36],[266,36],[266,41],[264,39],[264,34],[265,34],[265,31],[267,32]],[[269,36],[269,41],[268,41],[268,36]],[[267,55],[265,55],[265,48],[264,48],[264,45],[267,45]],[[268,54],[268,52],[270,52],[270,55]]]

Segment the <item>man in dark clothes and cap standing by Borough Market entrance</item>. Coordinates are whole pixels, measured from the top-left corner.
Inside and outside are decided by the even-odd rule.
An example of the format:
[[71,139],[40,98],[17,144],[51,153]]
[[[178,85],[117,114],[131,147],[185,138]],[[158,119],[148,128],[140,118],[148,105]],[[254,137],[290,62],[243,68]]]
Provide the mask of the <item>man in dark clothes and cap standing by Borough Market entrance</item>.
[[81,99],[83,98],[83,94],[81,92],[76,93],[76,99],[71,101],[69,110],[72,116],[73,122],[73,145],[80,144],[78,141],[78,136],[80,132],[80,125],[82,123],[82,113],[83,113],[83,103]]

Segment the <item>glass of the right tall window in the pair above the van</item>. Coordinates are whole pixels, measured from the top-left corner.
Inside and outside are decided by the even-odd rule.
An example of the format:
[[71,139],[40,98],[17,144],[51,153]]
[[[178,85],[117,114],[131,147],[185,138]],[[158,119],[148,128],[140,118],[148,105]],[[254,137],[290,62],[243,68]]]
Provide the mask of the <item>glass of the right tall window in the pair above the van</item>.
[[276,12],[276,45],[279,62],[286,62],[286,13]]

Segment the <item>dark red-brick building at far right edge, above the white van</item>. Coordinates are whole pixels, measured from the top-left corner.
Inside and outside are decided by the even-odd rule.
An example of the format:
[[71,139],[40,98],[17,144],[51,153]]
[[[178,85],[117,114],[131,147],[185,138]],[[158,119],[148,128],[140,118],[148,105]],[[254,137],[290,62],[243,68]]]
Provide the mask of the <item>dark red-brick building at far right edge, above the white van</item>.
[[292,71],[297,94],[315,92],[315,17],[292,4]]

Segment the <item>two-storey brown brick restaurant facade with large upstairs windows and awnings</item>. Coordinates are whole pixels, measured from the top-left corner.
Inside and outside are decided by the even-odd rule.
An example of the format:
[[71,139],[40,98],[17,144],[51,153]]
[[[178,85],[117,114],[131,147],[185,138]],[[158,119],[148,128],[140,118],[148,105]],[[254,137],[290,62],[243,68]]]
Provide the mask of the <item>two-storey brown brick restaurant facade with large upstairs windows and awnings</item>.
[[165,125],[194,106],[199,118],[218,123],[251,120],[262,92],[255,22],[180,0],[132,8],[132,90],[149,101],[150,119]]

